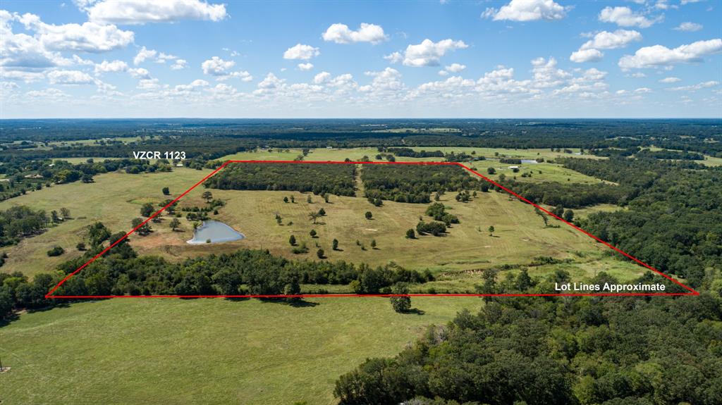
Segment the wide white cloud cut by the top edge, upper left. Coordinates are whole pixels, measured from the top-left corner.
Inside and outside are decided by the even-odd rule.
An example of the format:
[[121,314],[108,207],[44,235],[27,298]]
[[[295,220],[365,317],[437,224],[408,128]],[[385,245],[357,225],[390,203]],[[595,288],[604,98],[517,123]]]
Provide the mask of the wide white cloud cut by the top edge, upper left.
[[182,19],[220,21],[227,17],[225,4],[199,0],[103,0],[84,7],[88,19],[111,24],[175,22]]

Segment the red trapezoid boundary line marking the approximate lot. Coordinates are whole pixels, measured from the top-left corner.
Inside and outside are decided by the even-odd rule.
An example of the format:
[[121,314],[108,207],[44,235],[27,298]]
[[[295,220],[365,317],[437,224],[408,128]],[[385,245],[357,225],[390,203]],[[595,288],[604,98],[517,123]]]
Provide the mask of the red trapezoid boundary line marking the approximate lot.
[[[267,163],[283,163],[283,164],[417,164],[417,165],[425,165],[425,166],[460,166],[461,168],[465,169],[466,171],[476,174],[478,177],[486,180],[487,182],[490,182],[491,184],[495,185],[496,187],[499,187],[501,190],[504,190],[505,192],[508,192],[510,195],[513,195],[514,197],[517,197],[519,200],[523,201],[524,203],[527,203],[529,205],[533,205],[536,208],[539,208],[539,210],[544,211],[544,213],[547,213],[548,215],[551,215],[552,217],[556,218],[558,221],[562,221],[563,223],[567,224],[568,226],[571,226],[572,228],[576,229],[577,231],[580,231],[581,233],[584,233],[586,236],[589,236],[591,239],[594,239],[595,241],[598,241],[601,244],[604,244],[604,246],[609,247],[609,249],[614,250],[615,252],[622,254],[622,256],[627,257],[628,259],[631,259],[632,261],[636,262],[642,267],[646,267],[648,270],[652,270],[653,272],[656,272],[658,275],[661,275],[662,277],[665,277],[668,280],[671,280],[675,284],[681,286],[685,290],[687,290],[687,293],[559,293],[559,294],[299,294],[299,295],[53,295],[58,288],[60,288],[61,285],[64,284],[67,280],[69,280],[74,275],[77,275],[78,272],[83,270],[85,267],[87,267],[88,264],[95,262],[95,259],[98,257],[103,256],[106,252],[108,252],[110,249],[113,248],[113,246],[116,246],[118,243],[126,239],[128,236],[130,236],[132,233],[137,231],[140,227],[144,226],[146,223],[151,221],[153,218],[155,218],[157,215],[162,213],[166,208],[170,207],[170,205],[173,205],[178,202],[178,200],[181,200],[188,192],[191,192],[194,188],[198,187],[200,184],[205,182],[207,179],[212,177],[214,174],[219,172],[221,169],[225,168],[227,164],[229,163],[257,163],[257,164],[267,164]],[[66,277],[58,282],[58,284],[53,287],[52,290],[48,291],[47,294],[45,294],[45,298],[71,298],[71,299],[77,299],[77,298],[325,298],[325,297],[398,297],[398,296],[412,296],[412,297],[608,297],[608,296],[658,296],[658,295],[700,295],[696,290],[693,290],[690,287],[687,287],[687,285],[682,284],[682,282],[679,282],[677,280],[674,280],[673,277],[670,277],[669,275],[664,274],[663,272],[655,269],[654,267],[650,266],[649,264],[646,264],[645,262],[642,262],[640,259],[637,259],[636,257],[633,257],[631,254],[628,254],[627,252],[622,251],[622,249],[618,249],[615,246],[612,246],[612,244],[607,243],[606,241],[603,241],[599,239],[598,237],[592,235],[591,233],[583,230],[582,228],[579,228],[578,226],[575,226],[573,223],[565,221],[563,218],[560,218],[557,215],[554,215],[553,213],[549,212],[548,210],[544,209],[543,207],[536,205],[535,203],[532,203],[531,201],[527,200],[526,198],[522,197],[521,195],[518,195],[516,192],[513,192],[512,190],[509,190],[508,188],[504,187],[501,184],[498,184],[497,182],[493,181],[492,179],[484,176],[483,174],[480,174],[479,172],[469,168],[468,166],[461,164],[459,162],[446,162],[446,161],[286,161],[286,160],[228,160],[225,161],[224,164],[218,167],[218,169],[215,169],[213,172],[208,174],[206,177],[201,179],[196,184],[193,184],[191,188],[183,192],[183,194],[179,195],[175,198],[175,200],[171,201],[165,207],[161,208],[160,210],[157,210],[156,213],[153,215],[150,215],[149,218],[142,223],[140,223],[135,228],[131,229],[128,233],[123,235],[121,239],[118,239],[117,241],[113,242],[113,244],[110,244],[107,248],[103,249],[103,252],[100,252],[95,255],[95,257],[92,257],[92,259],[88,260],[83,264],[82,266],[78,267],[74,272],[71,272],[69,275],[66,275]]]

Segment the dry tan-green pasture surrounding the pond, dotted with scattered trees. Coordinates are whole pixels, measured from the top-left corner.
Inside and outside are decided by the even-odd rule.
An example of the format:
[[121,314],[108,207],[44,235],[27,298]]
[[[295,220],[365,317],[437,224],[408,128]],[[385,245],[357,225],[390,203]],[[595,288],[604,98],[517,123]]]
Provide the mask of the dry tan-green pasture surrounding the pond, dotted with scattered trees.
[[[74,218],[39,236],[25,239],[17,246],[5,248],[9,258],[2,270],[19,270],[27,275],[51,270],[60,262],[81,254],[75,245],[82,241],[90,223],[102,221],[113,231],[128,231],[143,203],[157,206],[168,198],[160,192],[162,187],[170,187],[170,197],[173,197],[208,172],[179,168],[170,173],[103,174],[96,177],[95,184],[57,185],[0,203],[0,209],[21,204],[46,211],[65,207]],[[193,190],[179,206],[203,205],[203,191],[203,187]],[[544,228],[541,218],[529,205],[510,199],[505,193],[479,192],[470,203],[457,202],[451,193],[444,195],[441,201],[461,223],[454,225],[447,236],[421,236],[412,240],[404,237],[406,229],[415,228],[419,217],[430,220],[424,215],[426,205],[386,202],[377,208],[362,197],[333,196],[325,203],[315,195],[311,196],[313,203],[309,204],[308,195],[299,192],[212,192],[227,202],[213,218],[244,233],[246,239],[225,244],[188,245],[186,241],[192,238],[192,223],[182,219],[181,228],[171,231],[170,219],[163,215],[160,223],[152,224],[154,232],[151,235],[131,236],[132,246],[139,254],[160,254],[172,260],[233,252],[240,248],[269,249],[288,258],[318,259],[316,250],[321,248],[331,260],[373,265],[396,262],[417,270],[428,269],[439,275],[439,280],[425,288],[451,289],[453,292],[473,290],[479,275],[472,270],[498,264],[528,264],[536,256],[575,259],[580,267],[590,269],[586,273],[575,272],[580,277],[593,275],[591,269],[597,271],[605,267],[621,267],[620,273],[627,276],[623,278],[636,277],[641,272],[640,267],[603,255],[605,249],[602,246],[568,226]],[[295,197],[295,203],[283,202],[283,197],[291,196]],[[308,214],[320,208],[326,210],[327,215],[314,225]],[[373,220],[365,219],[366,211],[373,213]],[[282,225],[275,220],[277,214],[282,217]],[[489,226],[495,227],[494,236],[489,236]],[[316,238],[310,236],[311,229],[318,233]],[[292,254],[288,243],[291,235],[298,244],[308,246],[307,254]],[[339,250],[331,249],[333,239],[339,240]],[[376,249],[372,249],[372,241],[376,241]],[[48,257],[45,252],[54,245],[62,246],[66,254]],[[573,252],[584,252],[586,256],[580,259]]]

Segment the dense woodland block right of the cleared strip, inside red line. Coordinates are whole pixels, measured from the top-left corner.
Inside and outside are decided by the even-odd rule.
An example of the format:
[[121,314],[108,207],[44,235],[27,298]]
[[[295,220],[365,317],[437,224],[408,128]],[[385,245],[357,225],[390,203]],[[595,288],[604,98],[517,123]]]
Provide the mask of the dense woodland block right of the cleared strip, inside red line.
[[479,180],[458,166],[383,165],[364,167],[365,197],[397,203],[430,203],[432,192],[479,188]]

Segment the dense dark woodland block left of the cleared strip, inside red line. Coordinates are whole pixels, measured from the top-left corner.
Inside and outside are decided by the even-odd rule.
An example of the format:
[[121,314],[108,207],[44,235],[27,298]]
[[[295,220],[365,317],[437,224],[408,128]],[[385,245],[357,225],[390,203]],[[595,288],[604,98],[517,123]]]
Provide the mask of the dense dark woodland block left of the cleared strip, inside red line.
[[206,180],[222,190],[284,190],[355,195],[353,164],[230,164]]

